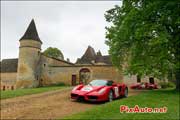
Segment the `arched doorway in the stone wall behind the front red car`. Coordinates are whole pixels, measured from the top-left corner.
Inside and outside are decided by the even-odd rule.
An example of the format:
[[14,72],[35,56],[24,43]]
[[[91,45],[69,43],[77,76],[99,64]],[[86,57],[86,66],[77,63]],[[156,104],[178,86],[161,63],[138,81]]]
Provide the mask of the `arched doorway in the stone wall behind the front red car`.
[[87,84],[90,79],[90,70],[88,68],[82,68],[79,71],[79,83]]

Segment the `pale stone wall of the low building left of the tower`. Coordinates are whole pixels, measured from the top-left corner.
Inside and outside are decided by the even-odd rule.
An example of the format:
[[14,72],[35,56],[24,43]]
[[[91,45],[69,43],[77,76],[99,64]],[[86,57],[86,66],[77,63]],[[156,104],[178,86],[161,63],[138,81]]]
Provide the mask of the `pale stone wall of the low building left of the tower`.
[[17,73],[0,73],[1,90],[15,89]]

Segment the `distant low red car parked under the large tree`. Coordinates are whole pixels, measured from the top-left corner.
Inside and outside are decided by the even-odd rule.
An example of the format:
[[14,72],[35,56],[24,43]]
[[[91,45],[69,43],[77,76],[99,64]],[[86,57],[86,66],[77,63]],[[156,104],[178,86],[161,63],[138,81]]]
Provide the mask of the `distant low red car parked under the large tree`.
[[142,82],[142,83],[135,83],[130,86],[131,89],[158,89],[157,84]]

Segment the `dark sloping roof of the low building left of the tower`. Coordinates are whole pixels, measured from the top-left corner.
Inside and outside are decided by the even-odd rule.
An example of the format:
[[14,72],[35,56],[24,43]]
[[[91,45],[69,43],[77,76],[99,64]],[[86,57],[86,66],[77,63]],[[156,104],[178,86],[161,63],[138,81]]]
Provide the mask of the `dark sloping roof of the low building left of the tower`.
[[3,59],[0,65],[1,73],[17,72],[18,59]]

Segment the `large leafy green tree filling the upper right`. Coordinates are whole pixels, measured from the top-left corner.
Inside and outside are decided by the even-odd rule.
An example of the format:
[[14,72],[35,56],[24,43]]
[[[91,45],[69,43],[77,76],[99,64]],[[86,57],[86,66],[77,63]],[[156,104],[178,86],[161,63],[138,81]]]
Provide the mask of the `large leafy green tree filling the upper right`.
[[175,71],[180,87],[180,2],[124,0],[106,12],[106,44],[115,66],[160,79]]

